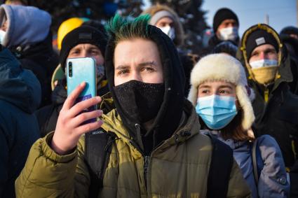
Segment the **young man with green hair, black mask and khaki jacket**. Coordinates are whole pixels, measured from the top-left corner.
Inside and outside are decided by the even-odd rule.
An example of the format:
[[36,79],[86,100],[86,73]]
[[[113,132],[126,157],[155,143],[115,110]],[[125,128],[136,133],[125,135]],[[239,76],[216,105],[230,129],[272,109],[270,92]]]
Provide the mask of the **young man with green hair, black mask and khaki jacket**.
[[[226,186],[222,197],[250,197],[233,158],[226,183],[209,180],[213,150],[222,145],[213,149],[210,138],[198,133],[196,111],[184,98],[175,45],[148,20],[148,15],[111,20],[104,65],[115,108],[79,114],[102,99],[74,105],[85,83],[77,87],[60,111],[55,132],[34,143],[16,181],[18,197],[212,197],[216,190],[210,192],[210,183]],[[85,122],[97,117],[97,122]],[[109,137],[102,148],[109,152],[103,173],[90,171],[88,161],[102,159],[102,150],[91,157],[86,151],[87,137],[96,134]]]

